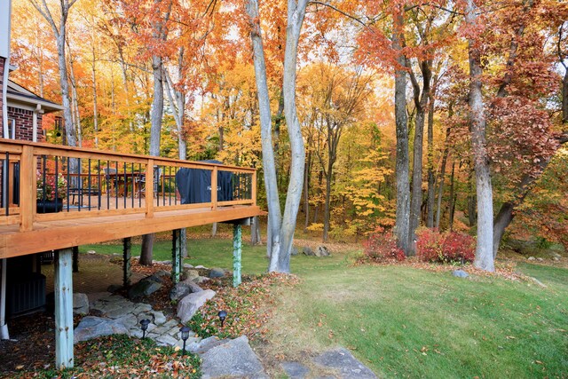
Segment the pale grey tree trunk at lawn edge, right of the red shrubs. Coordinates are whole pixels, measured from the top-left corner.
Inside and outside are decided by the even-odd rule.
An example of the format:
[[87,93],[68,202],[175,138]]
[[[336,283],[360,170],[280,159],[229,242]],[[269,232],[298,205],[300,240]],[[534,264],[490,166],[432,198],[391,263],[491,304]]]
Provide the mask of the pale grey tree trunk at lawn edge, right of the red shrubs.
[[[477,27],[477,5],[467,0],[465,20],[470,28]],[[493,188],[485,139],[485,109],[482,95],[481,51],[474,37],[469,37],[469,113],[471,149],[476,172],[477,248],[473,265],[493,272]]]

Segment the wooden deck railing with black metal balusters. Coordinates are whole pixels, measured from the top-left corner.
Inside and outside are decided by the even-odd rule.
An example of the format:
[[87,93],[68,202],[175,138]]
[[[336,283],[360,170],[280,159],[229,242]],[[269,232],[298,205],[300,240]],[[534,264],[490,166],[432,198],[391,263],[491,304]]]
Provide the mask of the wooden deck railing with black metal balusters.
[[[179,193],[184,170],[199,193]],[[0,139],[0,183],[0,225],[20,231],[41,221],[256,205],[255,169],[10,139]]]

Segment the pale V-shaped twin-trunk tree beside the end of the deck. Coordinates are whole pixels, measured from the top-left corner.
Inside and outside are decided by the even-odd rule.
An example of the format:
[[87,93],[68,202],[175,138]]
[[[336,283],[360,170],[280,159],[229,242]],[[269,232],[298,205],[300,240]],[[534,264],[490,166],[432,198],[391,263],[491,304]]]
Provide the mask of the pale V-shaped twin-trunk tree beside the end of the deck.
[[253,44],[256,88],[262,132],[264,185],[266,186],[269,213],[269,231],[267,237],[267,249],[270,249],[271,254],[270,264],[268,266],[269,272],[290,271],[290,254],[294,231],[296,230],[296,216],[302,197],[305,152],[302,130],[296,114],[296,59],[306,5],[307,0],[288,0],[283,96],[284,113],[288,126],[288,137],[290,138],[291,169],[284,216],[281,217],[272,146],[270,98],[268,96],[266,64],[264,60],[264,46],[260,28],[258,2],[256,0],[248,0],[246,4],[251,30],[250,36]]

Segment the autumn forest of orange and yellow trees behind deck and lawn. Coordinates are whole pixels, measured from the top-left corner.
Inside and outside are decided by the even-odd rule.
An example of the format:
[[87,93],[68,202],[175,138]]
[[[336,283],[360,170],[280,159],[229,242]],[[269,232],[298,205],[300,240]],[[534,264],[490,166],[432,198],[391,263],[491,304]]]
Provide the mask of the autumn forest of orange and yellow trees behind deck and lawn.
[[[68,97],[65,130],[44,117],[48,142],[263,170],[245,5],[13,0],[11,63],[19,68],[11,78],[64,105]],[[264,2],[259,11],[284,208],[292,159],[282,79],[287,3]],[[400,231],[404,218],[407,254],[420,227],[475,235],[477,62],[494,254],[503,235],[568,247],[566,20],[568,5],[556,0],[305,3],[297,227],[323,241],[359,241]],[[258,195],[265,204],[262,179]]]

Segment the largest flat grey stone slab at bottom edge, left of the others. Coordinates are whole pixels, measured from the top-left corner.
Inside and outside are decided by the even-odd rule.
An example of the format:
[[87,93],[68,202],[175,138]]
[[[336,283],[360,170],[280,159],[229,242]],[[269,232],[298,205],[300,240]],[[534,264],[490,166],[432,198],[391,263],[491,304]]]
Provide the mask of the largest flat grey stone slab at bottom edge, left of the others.
[[246,336],[219,344],[202,354],[201,373],[202,379],[268,379]]

